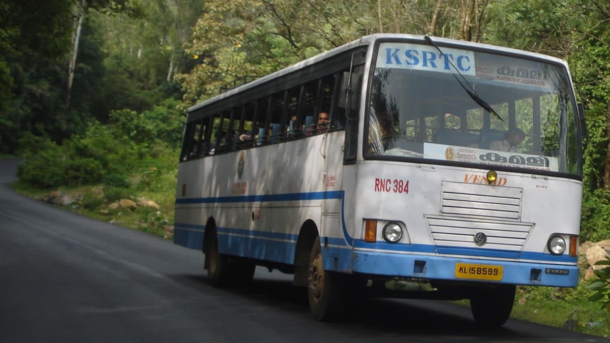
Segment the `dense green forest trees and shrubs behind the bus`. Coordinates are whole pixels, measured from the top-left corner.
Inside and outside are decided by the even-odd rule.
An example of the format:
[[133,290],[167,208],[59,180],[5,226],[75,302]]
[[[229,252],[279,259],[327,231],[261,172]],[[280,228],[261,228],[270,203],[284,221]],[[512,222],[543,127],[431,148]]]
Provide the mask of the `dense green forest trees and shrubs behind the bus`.
[[[0,153],[24,158],[26,192],[79,190],[78,210],[94,216],[120,215],[99,208],[138,195],[161,211],[134,223],[171,224],[188,106],[378,32],[567,60],[589,129],[581,242],[610,238],[607,0],[2,0]],[[548,292],[529,296],[566,297]]]

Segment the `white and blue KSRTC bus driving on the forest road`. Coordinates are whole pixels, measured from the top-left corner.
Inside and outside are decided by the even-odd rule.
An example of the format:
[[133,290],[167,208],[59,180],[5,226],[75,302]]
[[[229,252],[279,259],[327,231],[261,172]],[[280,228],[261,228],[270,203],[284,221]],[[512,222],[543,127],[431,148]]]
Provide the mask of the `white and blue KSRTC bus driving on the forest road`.
[[215,286],[293,274],[318,320],[377,294],[499,327],[578,282],[585,136],[564,60],[368,35],[187,110],[174,243]]

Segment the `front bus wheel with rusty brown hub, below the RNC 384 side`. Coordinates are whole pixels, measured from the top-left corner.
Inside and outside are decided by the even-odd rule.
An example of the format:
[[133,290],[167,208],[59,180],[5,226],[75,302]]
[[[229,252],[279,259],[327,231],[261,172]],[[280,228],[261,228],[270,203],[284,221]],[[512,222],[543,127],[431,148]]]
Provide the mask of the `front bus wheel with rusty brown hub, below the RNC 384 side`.
[[309,255],[307,273],[307,297],[309,308],[315,319],[320,321],[338,320],[345,307],[345,289],[342,289],[342,275],[324,270],[320,237],[315,239]]

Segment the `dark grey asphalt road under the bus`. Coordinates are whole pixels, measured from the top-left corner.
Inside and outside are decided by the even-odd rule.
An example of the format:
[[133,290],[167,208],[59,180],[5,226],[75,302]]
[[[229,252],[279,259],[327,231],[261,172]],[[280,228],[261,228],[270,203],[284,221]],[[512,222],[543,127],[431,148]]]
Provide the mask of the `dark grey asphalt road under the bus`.
[[519,320],[480,330],[444,301],[361,300],[351,319],[310,317],[290,276],[209,286],[203,255],[15,194],[0,159],[0,342],[603,342]]

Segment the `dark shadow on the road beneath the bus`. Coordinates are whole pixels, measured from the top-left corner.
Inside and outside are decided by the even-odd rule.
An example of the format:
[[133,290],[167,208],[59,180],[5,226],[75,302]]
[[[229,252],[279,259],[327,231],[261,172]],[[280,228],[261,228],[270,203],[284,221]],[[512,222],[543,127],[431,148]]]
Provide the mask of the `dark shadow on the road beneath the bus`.
[[[294,287],[289,280],[255,279],[247,288],[217,289],[210,286],[207,277],[203,275],[176,275],[173,279],[201,293],[221,292],[230,295],[233,300],[239,298],[259,303],[260,306],[266,306],[268,311],[290,312],[287,315],[294,316],[293,320],[315,322],[309,313],[306,288]],[[418,341],[437,341],[439,338],[451,338],[452,341],[491,339],[503,342],[548,339],[544,333],[540,333],[540,336],[529,336],[506,327],[485,330],[476,325],[470,309],[447,301],[359,298],[351,301],[345,320],[321,325],[342,332],[364,333],[365,336],[371,337],[404,336],[411,339],[415,337]]]

